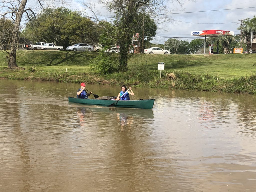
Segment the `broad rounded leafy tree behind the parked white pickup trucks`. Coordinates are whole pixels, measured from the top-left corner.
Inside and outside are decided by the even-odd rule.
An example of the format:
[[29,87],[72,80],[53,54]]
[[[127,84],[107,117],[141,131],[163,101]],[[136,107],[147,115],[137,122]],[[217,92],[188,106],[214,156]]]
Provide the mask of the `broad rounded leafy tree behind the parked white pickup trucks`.
[[28,22],[24,36],[34,42],[53,42],[64,47],[79,42],[93,45],[99,37],[94,22],[64,7],[41,12],[37,20]]

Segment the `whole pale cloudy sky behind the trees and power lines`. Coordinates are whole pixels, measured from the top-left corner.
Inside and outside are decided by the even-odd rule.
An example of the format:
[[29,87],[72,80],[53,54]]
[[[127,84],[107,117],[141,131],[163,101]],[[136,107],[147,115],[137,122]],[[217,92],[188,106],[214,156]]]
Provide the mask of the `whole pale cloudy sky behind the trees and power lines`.
[[[106,0],[107,1],[107,0]],[[67,0],[71,9],[82,10],[85,3],[95,3],[96,9],[101,13],[101,17],[111,17],[111,13],[97,4],[97,0]],[[180,40],[191,41],[196,37],[190,36],[190,31],[198,30],[228,30],[234,31],[234,34],[240,34],[237,30],[238,23],[241,19],[253,18],[256,15],[256,1],[255,0],[197,0],[197,1],[183,1],[182,7],[170,3],[168,4],[173,11],[172,23],[163,23],[158,25],[156,37],[152,42],[164,44],[168,38],[179,38]],[[253,8],[246,8],[253,7]],[[244,8],[244,9],[238,9]],[[219,10],[229,9],[229,10]],[[210,11],[219,10],[219,11]],[[207,12],[200,12],[207,11]],[[197,12],[197,13],[186,13]]]

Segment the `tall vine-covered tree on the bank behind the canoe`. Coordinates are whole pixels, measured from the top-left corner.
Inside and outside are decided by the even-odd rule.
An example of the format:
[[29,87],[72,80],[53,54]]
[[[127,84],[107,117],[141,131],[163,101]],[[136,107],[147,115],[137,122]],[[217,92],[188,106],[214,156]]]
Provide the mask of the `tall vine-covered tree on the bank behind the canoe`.
[[[100,3],[106,7],[109,12],[112,12],[115,15],[114,25],[116,26],[117,44],[120,46],[119,65],[121,66],[121,70],[125,71],[128,69],[127,61],[134,29],[138,23],[136,20],[137,16],[143,13],[143,18],[145,19],[144,13],[146,13],[146,15],[151,15],[151,18],[154,18],[154,20],[160,16],[164,21],[168,17],[168,14],[163,16],[161,13],[164,11],[168,12],[167,3],[173,1],[174,0],[100,0]],[[177,2],[181,5],[182,1],[179,0]],[[87,13],[87,16],[92,17],[93,15],[93,18],[99,22],[95,6],[90,3],[84,4],[84,6],[86,6],[87,10],[92,12],[92,14]],[[144,40],[144,37],[142,39]]]

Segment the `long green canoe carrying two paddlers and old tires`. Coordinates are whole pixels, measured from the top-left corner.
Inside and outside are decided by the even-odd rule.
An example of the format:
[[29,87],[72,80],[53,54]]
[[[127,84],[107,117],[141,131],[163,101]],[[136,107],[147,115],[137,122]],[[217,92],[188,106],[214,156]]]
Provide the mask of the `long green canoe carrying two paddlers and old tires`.
[[[82,103],[86,105],[100,105],[100,106],[109,106],[114,102],[116,102],[116,100],[79,99],[75,97],[68,97],[68,101],[73,103]],[[155,102],[155,99],[118,101],[114,106],[123,107],[123,108],[152,109],[154,102]]]

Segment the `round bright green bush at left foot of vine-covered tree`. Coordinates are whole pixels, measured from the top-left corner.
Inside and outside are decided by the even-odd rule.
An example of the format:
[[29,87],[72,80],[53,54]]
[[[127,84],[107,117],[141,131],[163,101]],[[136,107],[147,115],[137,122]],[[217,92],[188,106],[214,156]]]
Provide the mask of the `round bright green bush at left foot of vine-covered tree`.
[[104,51],[101,51],[96,58],[91,60],[90,67],[93,72],[101,75],[120,70],[117,54],[105,53]]

